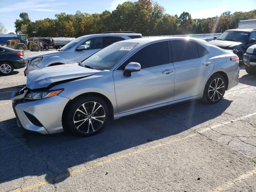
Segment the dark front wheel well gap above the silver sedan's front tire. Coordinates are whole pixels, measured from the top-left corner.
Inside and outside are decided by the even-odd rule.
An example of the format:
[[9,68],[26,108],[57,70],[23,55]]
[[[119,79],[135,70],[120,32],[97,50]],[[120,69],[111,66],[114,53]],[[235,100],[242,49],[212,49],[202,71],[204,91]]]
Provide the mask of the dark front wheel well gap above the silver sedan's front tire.
[[79,99],[81,97],[86,97],[86,96],[95,96],[95,97],[99,97],[99,98],[103,99],[107,103],[107,105],[109,106],[109,112],[110,112],[109,116],[110,116],[110,118],[114,119],[114,108],[113,108],[113,105],[110,102],[110,100],[106,96],[104,96],[104,95],[102,95],[100,93],[88,92],[88,93],[81,94],[81,95],[75,97],[72,100],[69,100],[69,102],[66,104],[66,106],[65,106],[65,108],[63,110],[63,113],[62,113],[62,127],[63,127],[64,131],[68,131],[68,129],[66,128],[66,126],[64,124],[64,118],[65,118],[65,115],[66,115],[66,111],[68,110],[68,106],[70,104],[72,104],[73,100]]

